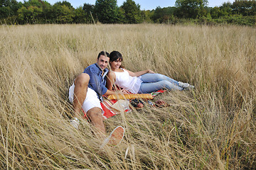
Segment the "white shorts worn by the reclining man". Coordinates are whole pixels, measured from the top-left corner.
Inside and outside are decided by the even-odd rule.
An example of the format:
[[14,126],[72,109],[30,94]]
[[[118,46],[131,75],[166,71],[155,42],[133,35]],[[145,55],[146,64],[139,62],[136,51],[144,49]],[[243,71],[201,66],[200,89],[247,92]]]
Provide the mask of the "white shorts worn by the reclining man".
[[[74,89],[75,84],[70,86],[69,89],[68,99],[71,103],[73,103],[74,100]],[[102,110],[102,114],[104,113],[102,106],[100,105],[100,99],[97,97],[97,93],[94,90],[87,88],[86,98],[85,101],[82,103],[82,110],[87,112],[91,108],[100,108]]]

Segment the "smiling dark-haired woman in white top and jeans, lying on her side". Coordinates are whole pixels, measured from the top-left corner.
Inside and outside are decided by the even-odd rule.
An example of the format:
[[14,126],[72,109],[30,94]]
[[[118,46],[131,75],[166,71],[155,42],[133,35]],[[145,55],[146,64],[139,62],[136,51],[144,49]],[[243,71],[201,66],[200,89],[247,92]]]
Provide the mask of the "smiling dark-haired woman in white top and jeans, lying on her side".
[[121,68],[121,64],[121,53],[112,51],[110,53],[111,71],[107,74],[107,89],[113,90],[115,84],[132,94],[149,94],[163,88],[180,91],[194,88],[190,84],[176,81],[162,74],[156,74],[150,69],[131,72]]

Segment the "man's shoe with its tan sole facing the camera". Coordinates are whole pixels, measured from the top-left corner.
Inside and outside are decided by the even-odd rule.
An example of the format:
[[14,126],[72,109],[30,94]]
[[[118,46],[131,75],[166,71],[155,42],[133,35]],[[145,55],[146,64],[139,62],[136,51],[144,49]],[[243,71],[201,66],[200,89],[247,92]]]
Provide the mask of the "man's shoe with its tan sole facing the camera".
[[116,146],[122,141],[123,138],[124,128],[122,128],[122,126],[117,126],[117,128],[114,128],[110,135],[102,142],[100,149],[106,145]]

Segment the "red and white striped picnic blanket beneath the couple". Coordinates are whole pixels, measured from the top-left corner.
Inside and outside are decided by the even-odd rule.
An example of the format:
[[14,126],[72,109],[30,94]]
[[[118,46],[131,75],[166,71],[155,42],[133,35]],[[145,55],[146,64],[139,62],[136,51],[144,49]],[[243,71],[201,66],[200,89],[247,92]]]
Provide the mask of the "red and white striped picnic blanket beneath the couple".
[[[164,93],[164,91],[165,90],[154,91],[150,94],[154,98],[154,96],[156,96],[157,94]],[[117,102],[117,100],[110,100],[107,98],[107,96],[104,97],[103,101],[100,103],[102,106],[102,109],[104,111],[104,113],[103,113],[104,119],[111,118],[112,116],[119,114],[119,111],[116,111],[116,110],[112,109],[112,107],[111,107],[116,102]],[[124,112],[129,113],[130,111],[132,111],[132,109],[127,108]]]

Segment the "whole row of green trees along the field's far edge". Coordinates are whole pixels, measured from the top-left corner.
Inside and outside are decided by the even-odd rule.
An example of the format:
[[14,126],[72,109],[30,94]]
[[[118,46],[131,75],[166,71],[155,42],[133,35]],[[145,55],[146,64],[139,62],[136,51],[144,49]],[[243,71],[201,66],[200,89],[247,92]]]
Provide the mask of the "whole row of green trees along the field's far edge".
[[208,7],[207,0],[176,0],[175,6],[140,10],[133,0],[117,6],[117,0],[96,0],[95,5],[74,8],[68,1],[51,5],[47,1],[0,0],[0,22],[33,23],[234,23],[255,26],[256,0],[236,0],[232,4]]

